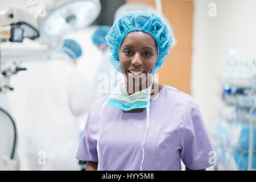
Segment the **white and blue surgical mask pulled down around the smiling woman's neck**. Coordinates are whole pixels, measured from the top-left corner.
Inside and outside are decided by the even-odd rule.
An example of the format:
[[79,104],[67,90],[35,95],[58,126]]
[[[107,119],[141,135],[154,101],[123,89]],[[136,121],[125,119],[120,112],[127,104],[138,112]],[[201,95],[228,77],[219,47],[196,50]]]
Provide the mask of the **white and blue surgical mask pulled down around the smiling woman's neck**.
[[146,108],[150,102],[152,83],[148,88],[129,95],[125,88],[125,82],[120,82],[114,92],[110,94],[106,104],[113,105],[125,111]]

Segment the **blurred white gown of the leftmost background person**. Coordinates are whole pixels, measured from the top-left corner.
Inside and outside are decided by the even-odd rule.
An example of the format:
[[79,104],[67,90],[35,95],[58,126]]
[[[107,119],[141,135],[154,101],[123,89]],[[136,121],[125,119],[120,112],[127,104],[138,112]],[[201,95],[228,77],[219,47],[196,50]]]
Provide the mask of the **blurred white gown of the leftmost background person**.
[[78,170],[77,117],[95,100],[84,77],[67,60],[27,65],[26,111],[19,150],[21,170]]

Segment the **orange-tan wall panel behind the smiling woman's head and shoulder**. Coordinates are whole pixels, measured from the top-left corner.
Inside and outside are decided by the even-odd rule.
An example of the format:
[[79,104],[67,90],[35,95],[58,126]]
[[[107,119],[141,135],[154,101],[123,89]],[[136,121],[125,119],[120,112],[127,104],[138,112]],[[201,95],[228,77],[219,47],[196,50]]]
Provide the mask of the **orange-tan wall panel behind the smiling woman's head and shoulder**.
[[[141,2],[155,6],[154,0],[127,2]],[[177,44],[171,49],[163,68],[159,69],[159,80],[162,84],[190,93],[193,1],[162,0],[162,8],[163,14],[172,24]]]

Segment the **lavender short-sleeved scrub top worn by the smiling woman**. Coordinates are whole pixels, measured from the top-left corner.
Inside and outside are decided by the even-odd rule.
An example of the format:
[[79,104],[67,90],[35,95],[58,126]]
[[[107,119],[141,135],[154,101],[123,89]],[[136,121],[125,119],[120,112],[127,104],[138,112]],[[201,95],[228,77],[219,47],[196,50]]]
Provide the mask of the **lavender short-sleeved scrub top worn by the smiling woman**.
[[100,159],[98,169],[109,171],[140,170],[141,163],[143,170],[181,170],[180,159],[192,170],[212,166],[212,144],[199,106],[191,96],[165,85],[158,98],[150,102],[145,140],[146,109],[142,113],[123,113],[108,104],[102,107],[107,99],[92,105],[77,159],[97,163]]

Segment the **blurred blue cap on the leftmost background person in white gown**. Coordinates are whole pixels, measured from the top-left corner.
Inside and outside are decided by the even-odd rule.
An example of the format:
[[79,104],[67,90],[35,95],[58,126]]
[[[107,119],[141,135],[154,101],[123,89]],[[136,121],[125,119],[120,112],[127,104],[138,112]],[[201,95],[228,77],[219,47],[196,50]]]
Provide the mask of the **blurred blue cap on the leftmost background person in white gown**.
[[82,55],[79,43],[73,39],[65,39],[61,51],[67,53],[72,59],[77,59]]

